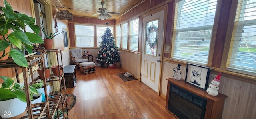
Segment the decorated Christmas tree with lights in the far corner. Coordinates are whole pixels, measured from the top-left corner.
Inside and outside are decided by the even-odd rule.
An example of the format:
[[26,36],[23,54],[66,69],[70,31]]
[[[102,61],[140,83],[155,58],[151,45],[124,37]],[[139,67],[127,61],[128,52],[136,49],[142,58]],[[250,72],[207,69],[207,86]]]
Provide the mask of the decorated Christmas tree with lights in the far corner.
[[[108,26],[108,23],[106,25]],[[108,27],[101,38],[98,56],[96,56],[97,62],[100,64],[107,63],[109,66],[112,66],[114,62],[118,62],[119,55],[114,36]]]

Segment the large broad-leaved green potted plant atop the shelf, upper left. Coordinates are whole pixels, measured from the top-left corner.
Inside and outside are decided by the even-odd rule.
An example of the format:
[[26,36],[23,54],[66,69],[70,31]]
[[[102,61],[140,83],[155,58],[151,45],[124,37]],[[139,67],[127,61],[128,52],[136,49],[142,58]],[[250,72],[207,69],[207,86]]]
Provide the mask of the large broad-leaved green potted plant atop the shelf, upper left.
[[[17,65],[28,67],[24,55],[17,49],[12,49],[10,45],[32,53],[32,43],[44,43],[42,37],[38,35],[40,27],[34,25],[35,18],[14,12],[6,0],[4,0],[4,4],[5,8],[0,7],[3,12],[3,14],[0,14],[0,36],[2,36],[2,38],[0,37],[0,51],[2,51],[0,60],[5,60],[2,58],[10,55]],[[25,32],[25,26],[30,27],[34,33]]]

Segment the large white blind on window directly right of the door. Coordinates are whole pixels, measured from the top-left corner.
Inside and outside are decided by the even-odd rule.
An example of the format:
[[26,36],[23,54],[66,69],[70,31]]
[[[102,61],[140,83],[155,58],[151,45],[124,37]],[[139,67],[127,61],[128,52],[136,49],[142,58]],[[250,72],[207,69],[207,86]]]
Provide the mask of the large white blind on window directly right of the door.
[[207,64],[217,0],[175,4],[172,59]]

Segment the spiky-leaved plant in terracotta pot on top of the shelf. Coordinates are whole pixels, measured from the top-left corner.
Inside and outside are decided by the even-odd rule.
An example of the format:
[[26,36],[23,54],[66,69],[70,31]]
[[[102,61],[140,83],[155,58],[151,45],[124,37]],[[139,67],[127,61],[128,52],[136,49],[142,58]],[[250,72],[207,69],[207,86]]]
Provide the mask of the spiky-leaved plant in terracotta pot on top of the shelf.
[[[45,39],[44,39],[44,47],[45,47],[45,49],[52,49],[52,46],[53,46],[53,38],[54,38],[56,35],[62,33],[63,31],[60,32],[60,33],[55,32],[55,33],[50,33],[50,34],[49,34],[48,32],[45,31],[44,27],[41,27],[41,29],[42,29],[42,31],[43,31],[43,33],[44,33],[44,36],[45,36]],[[57,34],[56,34],[56,33],[57,33]]]

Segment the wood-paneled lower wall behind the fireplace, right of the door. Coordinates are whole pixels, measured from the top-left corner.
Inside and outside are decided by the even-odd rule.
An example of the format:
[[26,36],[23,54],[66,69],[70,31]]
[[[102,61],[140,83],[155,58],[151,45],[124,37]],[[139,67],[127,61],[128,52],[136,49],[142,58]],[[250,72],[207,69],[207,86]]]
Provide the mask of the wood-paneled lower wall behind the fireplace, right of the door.
[[[162,80],[160,92],[166,97],[167,78],[172,78],[172,68],[177,64],[168,61],[163,61],[162,65]],[[186,66],[181,66],[182,78],[186,76]],[[216,75],[210,74],[209,82]],[[183,80],[185,81],[185,80]],[[198,90],[201,90],[198,88]],[[256,117],[256,85],[239,80],[234,80],[221,76],[219,93],[228,96],[225,101],[222,119],[255,119]],[[162,96],[162,97],[164,97]]]

